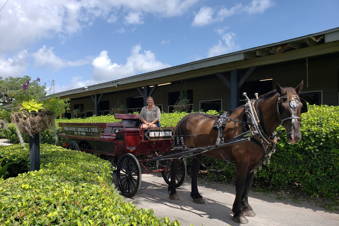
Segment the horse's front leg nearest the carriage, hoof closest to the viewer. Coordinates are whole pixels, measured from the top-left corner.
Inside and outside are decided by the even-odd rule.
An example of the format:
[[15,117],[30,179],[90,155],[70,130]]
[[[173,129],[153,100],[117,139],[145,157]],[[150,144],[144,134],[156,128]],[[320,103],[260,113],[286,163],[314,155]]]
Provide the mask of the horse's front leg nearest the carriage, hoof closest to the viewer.
[[235,182],[235,200],[233,203],[233,220],[237,223],[248,223],[248,219],[246,218],[245,214],[242,212],[241,209],[241,200],[242,194],[245,190],[246,184],[246,175],[248,170],[248,163],[247,162],[236,162],[235,165],[235,174],[236,174],[236,182]]

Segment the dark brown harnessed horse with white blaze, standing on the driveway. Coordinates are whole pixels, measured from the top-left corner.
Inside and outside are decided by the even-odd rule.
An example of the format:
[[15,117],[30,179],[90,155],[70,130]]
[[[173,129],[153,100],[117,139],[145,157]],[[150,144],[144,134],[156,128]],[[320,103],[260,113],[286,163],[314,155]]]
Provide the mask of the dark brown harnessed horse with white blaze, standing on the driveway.
[[[175,140],[183,138],[184,147],[195,150],[197,147],[211,147],[203,154],[198,152],[194,156],[192,164],[192,192],[191,197],[196,203],[204,203],[198,192],[197,175],[201,164],[202,155],[214,158],[233,161],[236,164],[236,196],[233,203],[233,219],[238,223],[248,223],[246,216],[254,217],[255,213],[248,202],[248,194],[253,181],[254,170],[261,165],[275,146],[275,129],[282,124],[286,128],[286,136],[289,143],[295,144],[302,139],[300,134],[300,116],[307,111],[307,105],[302,103],[298,96],[303,88],[302,81],[296,88],[280,87],[276,83],[276,90],[250,101],[245,106],[228,111],[225,121],[221,123],[224,128],[215,130],[217,116],[192,113],[183,117],[177,124]],[[246,94],[244,94],[245,96]],[[220,123],[219,123],[220,124]],[[241,137],[244,131],[251,131],[251,139],[247,142],[239,142],[232,145],[217,146],[218,137],[224,139],[224,143]],[[270,135],[270,136],[268,136]],[[272,136],[271,136],[272,135]],[[221,142],[222,144],[222,142]],[[215,146],[213,146],[215,145]],[[274,152],[274,148],[273,148]],[[175,175],[178,167],[177,160],[173,161],[171,169],[171,182],[168,186],[170,199],[178,200],[176,193]]]

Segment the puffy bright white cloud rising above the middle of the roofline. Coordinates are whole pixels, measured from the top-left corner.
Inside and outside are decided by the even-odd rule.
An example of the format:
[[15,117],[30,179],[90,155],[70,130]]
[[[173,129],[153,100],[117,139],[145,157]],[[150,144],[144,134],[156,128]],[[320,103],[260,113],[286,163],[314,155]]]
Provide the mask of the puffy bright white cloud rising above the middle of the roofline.
[[134,46],[126,64],[112,63],[108,52],[101,51],[100,55],[92,61],[92,78],[99,82],[106,82],[171,66],[157,61],[151,50],[144,50],[143,53],[140,53],[140,50],[140,44]]

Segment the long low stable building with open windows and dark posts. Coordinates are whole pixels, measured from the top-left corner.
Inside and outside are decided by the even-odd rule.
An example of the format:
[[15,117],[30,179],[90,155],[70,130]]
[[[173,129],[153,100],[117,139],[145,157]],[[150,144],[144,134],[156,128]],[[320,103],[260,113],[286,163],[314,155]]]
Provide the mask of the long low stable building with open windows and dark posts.
[[[339,104],[339,28],[232,52],[115,81],[56,93],[70,98],[87,116],[107,115],[123,108],[139,111],[153,96],[162,111],[172,112],[180,91],[190,109],[227,110],[281,86],[304,80],[302,96],[310,104]],[[123,107],[122,107],[123,105]]]

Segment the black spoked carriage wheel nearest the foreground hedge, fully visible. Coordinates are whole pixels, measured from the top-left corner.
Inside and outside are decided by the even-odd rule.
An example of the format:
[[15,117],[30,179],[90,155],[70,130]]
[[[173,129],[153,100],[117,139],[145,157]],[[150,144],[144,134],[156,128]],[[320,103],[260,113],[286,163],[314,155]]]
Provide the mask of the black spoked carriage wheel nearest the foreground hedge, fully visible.
[[123,196],[131,198],[137,194],[141,186],[141,168],[134,155],[125,154],[119,159],[117,179]]

